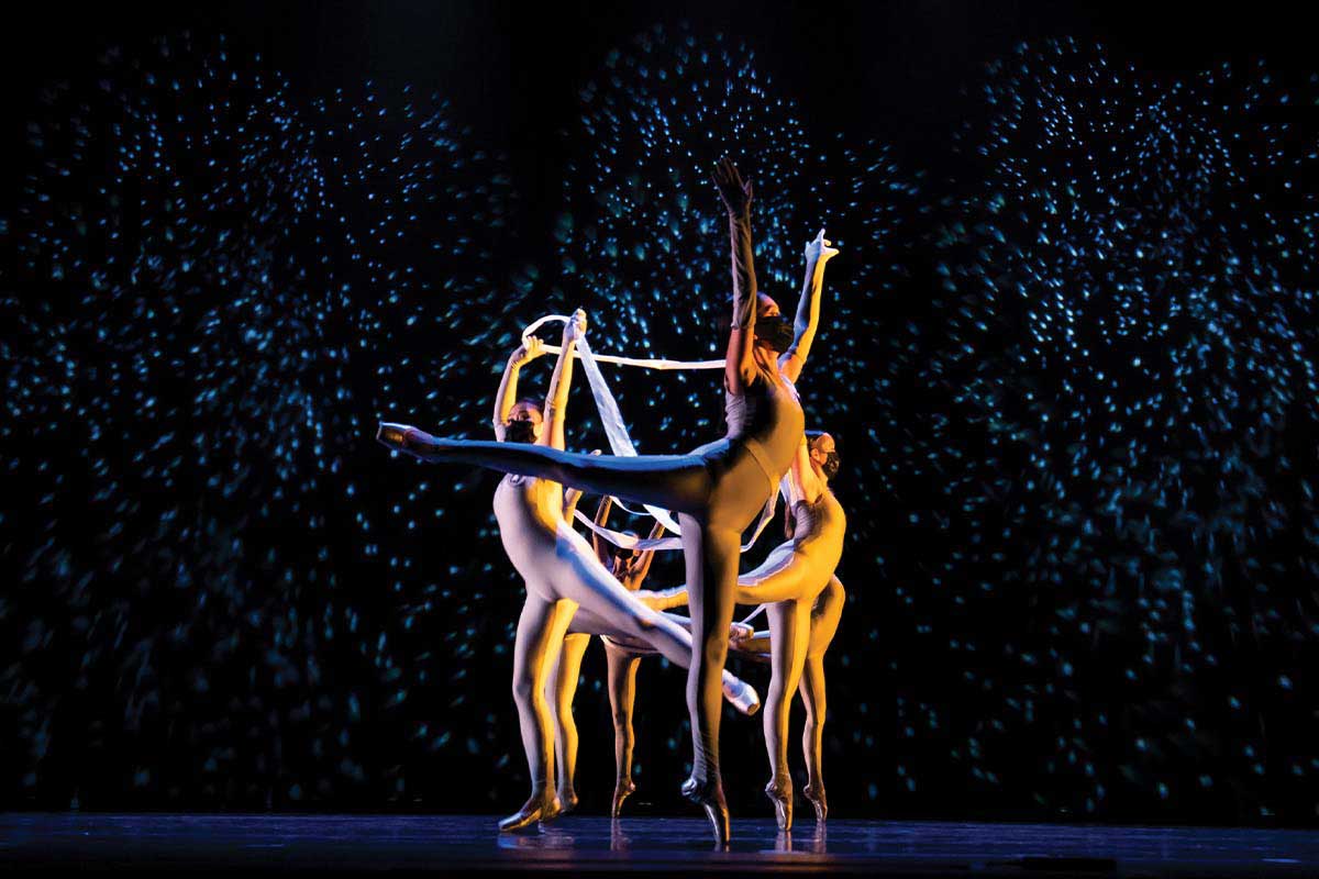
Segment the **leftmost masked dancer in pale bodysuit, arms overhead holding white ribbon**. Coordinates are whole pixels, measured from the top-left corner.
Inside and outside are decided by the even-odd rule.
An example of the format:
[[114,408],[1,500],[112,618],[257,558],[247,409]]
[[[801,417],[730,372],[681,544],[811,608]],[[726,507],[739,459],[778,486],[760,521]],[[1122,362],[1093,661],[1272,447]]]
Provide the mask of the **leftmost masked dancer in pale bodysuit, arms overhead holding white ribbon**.
[[[545,403],[517,399],[518,373],[543,353],[543,344],[529,340],[513,352],[495,402],[496,445],[534,443],[532,448],[563,448],[574,348],[584,332],[586,314],[579,310],[563,328],[562,352]],[[567,498],[568,503],[575,505],[578,497],[579,493]],[[501,830],[547,821],[563,810],[551,779],[554,737],[545,691],[550,668],[579,608],[583,617],[599,621],[599,626],[644,640],[681,666],[692,660],[690,633],[646,608],[605,571],[587,542],[565,519],[565,499],[562,486],[547,478],[509,474],[495,489],[495,517],[504,551],[526,581],[526,602],[513,646],[513,700],[532,776],[532,796],[500,822]],[[721,683],[729,701],[741,710],[752,713],[758,708],[749,685],[729,673]]]

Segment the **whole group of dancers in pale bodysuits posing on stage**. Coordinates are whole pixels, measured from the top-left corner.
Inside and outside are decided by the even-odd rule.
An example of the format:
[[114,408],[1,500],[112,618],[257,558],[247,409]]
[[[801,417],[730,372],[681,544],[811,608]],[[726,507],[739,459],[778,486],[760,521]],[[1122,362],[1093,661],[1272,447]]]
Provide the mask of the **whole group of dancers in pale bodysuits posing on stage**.
[[[835,576],[845,518],[830,492],[839,469],[834,438],[805,430],[795,381],[819,324],[824,265],[838,250],[823,229],[806,245],[806,277],[795,320],[756,289],[752,261],[752,187],[729,159],[714,171],[732,241],[732,320],[724,360],[727,434],[686,455],[599,455],[565,449],[565,412],[574,354],[586,348],[582,311],[565,326],[558,362],[543,401],[518,398],[521,369],[546,353],[536,336],[509,357],[495,403],[495,441],[441,439],[405,424],[383,423],[377,439],[426,461],[477,465],[505,473],[495,492],[504,550],[526,581],[526,602],[513,652],[513,698],[532,776],[532,795],[500,822],[517,830],[576,805],[576,727],[572,695],[582,655],[599,635],[608,655],[615,718],[616,784],[612,812],[632,781],[632,708],[640,659],[661,654],[687,667],[692,771],[683,793],[702,805],[716,843],[729,836],[719,772],[721,700],[739,712],[760,708],[756,691],[725,669],[729,648],[769,662],[765,743],[772,778],[765,793],[778,826],[791,828],[787,767],[791,696],[806,705],[803,791],[816,820],[827,814],[820,774],[826,714],[823,654],[838,630],[843,585]],[[567,492],[565,492],[567,486]],[[741,538],[778,492],[787,503],[787,540],[739,576]],[[572,522],[583,493],[600,496],[592,543]],[[686,582],[641,589],[663,526],[648,539],[603,527],[613,501],[677,514]],[[584,517],[579,517],[583,518]],[[670,521],[671,522],[671,521]],[[588,521],[590,523],[590,521]],[[619,539],[619,538],[624,539]],[[608,543],[612,538],[621,546]],[[733,622],[735,605],[764,608],[769,629]],[[689,606],[689,617],[669,613]],[[555,764],[558,771],[555,772]]]

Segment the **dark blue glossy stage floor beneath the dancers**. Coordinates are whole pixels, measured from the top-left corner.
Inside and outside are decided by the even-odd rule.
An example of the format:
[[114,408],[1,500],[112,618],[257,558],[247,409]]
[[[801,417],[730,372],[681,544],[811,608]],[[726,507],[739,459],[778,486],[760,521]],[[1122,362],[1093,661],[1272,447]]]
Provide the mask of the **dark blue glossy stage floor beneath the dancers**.
[[807,821],[791,836],[736,818],[714,851],[695,818],[570,816],[500,834],[495,816],[0,814],[13,868],[244,874],[843,871],[888,876],[1316,876],[1319,833],[1041,824]]

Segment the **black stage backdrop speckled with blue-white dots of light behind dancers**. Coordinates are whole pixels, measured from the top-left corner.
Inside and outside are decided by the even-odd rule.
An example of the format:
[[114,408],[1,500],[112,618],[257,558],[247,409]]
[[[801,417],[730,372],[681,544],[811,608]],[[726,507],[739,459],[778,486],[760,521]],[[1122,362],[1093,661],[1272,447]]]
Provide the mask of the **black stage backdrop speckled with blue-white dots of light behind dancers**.
[[[495,478],[375,423],[484,438],[578,304],[598,352],[712,354],[728,153],[766,291],[842,248],[801,382],[849,517],[835,812],[1316,822],[1319,65],[1282,7],[175,5],[3,37],[0,805],[516,808]],[[609,376],[641,451],[719,434],[706,374]],[[580,387],[568,436],[604,444]],[[634,813],[687,809],[662,666]],[[724,751],[768,813],[760,718]]]

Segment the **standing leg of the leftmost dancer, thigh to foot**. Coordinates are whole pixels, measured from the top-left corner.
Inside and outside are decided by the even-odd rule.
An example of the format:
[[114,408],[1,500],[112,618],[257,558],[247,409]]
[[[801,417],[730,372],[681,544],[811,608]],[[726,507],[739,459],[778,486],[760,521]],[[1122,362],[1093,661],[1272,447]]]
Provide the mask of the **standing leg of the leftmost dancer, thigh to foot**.
[[576,602],[543,598],[528,585],[513,644],[513,701],[517,702],[522,750],[526,751],[526,768],[532,775],[532,796],[514,814],[500,821],[500,830],[518,830],[559,812],[559,801],[554,796],[554,739],[545,681],[553,654],[563,643],[563,634],[575,611]]

